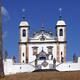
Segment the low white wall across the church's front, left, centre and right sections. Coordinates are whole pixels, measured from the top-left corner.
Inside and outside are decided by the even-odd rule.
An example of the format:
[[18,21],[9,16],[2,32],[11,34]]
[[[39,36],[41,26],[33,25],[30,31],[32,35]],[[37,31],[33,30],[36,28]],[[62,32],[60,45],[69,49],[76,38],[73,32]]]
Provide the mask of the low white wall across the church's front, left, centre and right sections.
[[[43,60],[38,61],[38,65],[41,65],[41,69],[52,69],[51,66],[53,65],[52,60],[46,60],[48,65],[46,67],[42,66]],[[34,63],[34,62],[33,62]],[[4,64],[4,74],[5,75],[11,75],[16,73],[23,73],[23,72],[32,72],[35,70],[35,67],[33,64],[13,64],[12,59],[6,59],[6,61],[3,60]],[[80,71],[80,63],[56,63],[57,67],[56,69],[59,71]]]

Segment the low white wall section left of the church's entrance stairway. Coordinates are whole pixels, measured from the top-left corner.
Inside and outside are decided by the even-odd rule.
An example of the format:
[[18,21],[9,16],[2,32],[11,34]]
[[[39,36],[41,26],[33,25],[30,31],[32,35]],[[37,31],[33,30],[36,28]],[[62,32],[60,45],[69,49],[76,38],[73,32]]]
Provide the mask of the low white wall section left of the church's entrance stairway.
[[12,59],[7,59],[4,62],[4,74],[11,75],[22,72],[32,72],[35,70],[34,66],[30,64],[13,64]]

